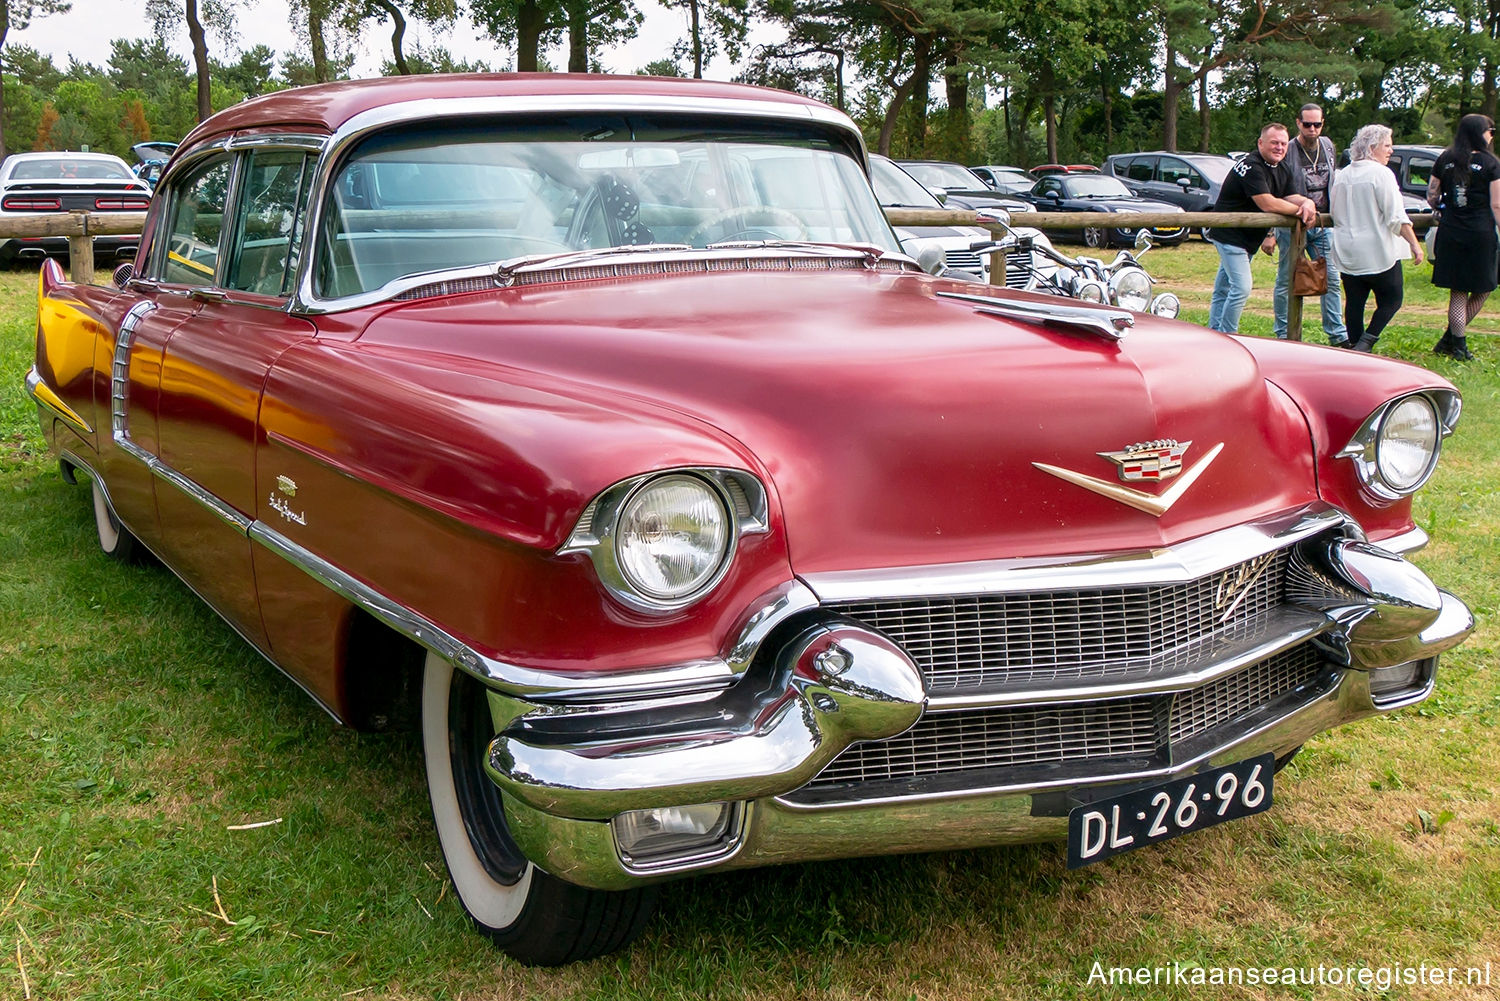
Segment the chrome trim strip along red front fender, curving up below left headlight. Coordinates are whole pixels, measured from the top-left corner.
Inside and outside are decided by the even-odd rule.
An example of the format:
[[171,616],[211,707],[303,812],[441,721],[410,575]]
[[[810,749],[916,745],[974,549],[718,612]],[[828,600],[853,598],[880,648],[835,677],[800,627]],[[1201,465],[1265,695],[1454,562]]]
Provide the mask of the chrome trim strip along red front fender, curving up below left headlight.
[[484,656],[424,615],[381,594],[322,557],[292,542],[262,521],[249,527],[252,542],[266,546],[339,596],[422,647],[448,659],[483,684],[532,702],[598,702],[716,692],[735,683],[765,636],[789,615],[807,608],[808,596],[792,587],[768,596],[741,629],[730,660],[711,657],[644,671],[561,674]]

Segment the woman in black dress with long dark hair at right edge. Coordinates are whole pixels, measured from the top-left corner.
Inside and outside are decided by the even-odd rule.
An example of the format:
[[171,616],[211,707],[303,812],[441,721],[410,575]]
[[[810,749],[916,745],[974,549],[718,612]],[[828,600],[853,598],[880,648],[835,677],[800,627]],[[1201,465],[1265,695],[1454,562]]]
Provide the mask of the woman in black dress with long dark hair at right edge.
[[1432,284],[1449,290],[1448,330],[1432,348],[1468,362],[1468,324],[1496,288],[1500,264],[1500,159],[1490,152],[1496,123],[1466,114],[1454,144],[1437,158],[1426,186],[1428,203],[1442,213],[1434,246]]

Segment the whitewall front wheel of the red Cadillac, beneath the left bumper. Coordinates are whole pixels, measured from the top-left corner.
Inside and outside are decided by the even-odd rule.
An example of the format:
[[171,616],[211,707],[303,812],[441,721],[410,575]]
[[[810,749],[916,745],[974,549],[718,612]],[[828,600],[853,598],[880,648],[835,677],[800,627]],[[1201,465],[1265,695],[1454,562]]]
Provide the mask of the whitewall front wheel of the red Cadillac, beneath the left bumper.
[[422,678],[428,794],[464,909],[500,948],[532,966],[624,947],[651,917],[656,888],[586,890],[526,860],[506,828],[500,788],[484,773],[494,737],[484,686],[429,653]]

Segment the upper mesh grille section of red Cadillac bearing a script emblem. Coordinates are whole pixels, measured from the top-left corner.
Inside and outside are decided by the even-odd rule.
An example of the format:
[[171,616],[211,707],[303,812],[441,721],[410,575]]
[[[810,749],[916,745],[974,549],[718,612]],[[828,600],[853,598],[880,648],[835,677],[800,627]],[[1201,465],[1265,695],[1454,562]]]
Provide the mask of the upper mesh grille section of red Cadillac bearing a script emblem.
[[[832,603],[921,668],[934,695],[1180,669],[1194,645],[1282,603],[1287,552],[1186,584]],[[1238,602],[1236,602],[1238,599]]]

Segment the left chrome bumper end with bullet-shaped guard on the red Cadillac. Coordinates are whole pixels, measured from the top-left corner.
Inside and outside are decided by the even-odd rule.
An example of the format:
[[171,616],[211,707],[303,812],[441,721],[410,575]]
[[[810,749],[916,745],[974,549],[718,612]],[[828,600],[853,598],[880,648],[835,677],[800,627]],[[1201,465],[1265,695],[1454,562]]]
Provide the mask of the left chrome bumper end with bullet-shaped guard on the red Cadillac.
[[490,743],[486,767],[507,795],[579,819],[750,800],[798,788],[855,741],[900,734],[926,704],[910,657],[831,620],[705,701],[520,716]]

